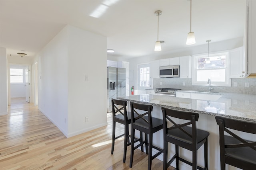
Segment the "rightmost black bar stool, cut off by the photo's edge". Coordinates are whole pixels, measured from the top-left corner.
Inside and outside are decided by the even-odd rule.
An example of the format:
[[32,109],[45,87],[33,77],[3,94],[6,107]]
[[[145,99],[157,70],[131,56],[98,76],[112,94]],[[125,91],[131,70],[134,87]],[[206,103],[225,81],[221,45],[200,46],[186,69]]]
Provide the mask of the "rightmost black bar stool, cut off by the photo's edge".
[[[224,116],[215,117],[220,131],[220,168],[226,164],[244,170],[256,170],[256,142],[244,140],[234,134],[236,131],[256,134],[256,123],[232,119]],[[225,135],[226,133],[229,135]]]

